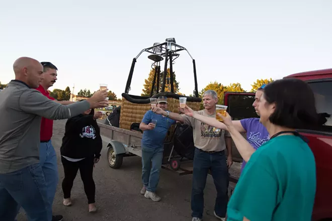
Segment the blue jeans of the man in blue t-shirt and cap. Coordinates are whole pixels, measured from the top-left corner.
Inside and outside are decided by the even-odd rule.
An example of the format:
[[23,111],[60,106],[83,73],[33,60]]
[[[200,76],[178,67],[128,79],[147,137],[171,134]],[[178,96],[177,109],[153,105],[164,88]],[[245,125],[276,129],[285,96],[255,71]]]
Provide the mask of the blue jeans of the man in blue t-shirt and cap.
[[142,181],[147,191],[155,192],[157,188],[162,157],[163,148],[150,148],[142,145]]

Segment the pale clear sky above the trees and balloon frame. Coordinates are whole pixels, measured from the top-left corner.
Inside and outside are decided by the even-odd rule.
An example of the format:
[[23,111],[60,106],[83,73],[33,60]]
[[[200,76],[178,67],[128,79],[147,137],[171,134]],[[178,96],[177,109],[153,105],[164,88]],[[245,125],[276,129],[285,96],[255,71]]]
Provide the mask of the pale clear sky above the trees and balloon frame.
[[[99,89],[119,97],[132,59],[154,42],[175,38],[196,60],[198,88],[332,67],[332,1],[2,1],[0,81],[28,56],[58,67],[54,88]],[[137,60],[130,94],[140,95],[152,61]],[[180,92],[192,94],[192,61],[176,60]]]

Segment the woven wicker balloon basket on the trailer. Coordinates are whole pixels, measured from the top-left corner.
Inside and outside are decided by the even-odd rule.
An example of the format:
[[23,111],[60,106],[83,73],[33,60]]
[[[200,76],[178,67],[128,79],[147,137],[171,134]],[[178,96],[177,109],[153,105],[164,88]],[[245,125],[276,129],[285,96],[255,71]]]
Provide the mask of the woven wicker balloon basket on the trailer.
[[[169,111],[179,113],[179,99],[168,97],[167,101]],[[201,102],[187,101],[186,104],[194,111],[199,111]],[[122,97],[120,128],[130,130],[131,124],[140,123],[143,119],[143,116],[149,109],[151,109],[150,103],[133,103],[128,101],[125,97]]]

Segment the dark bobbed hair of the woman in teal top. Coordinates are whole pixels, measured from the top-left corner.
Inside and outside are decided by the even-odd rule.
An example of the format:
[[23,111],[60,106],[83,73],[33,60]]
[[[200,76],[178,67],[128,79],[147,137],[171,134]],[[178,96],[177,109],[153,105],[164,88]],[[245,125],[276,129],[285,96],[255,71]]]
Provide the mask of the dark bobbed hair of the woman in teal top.
[[264,87],[268,103],[275,103],[275,112],[269,120],[272,124],[292,128],[310,129],[321,125],[310,86],[296,78],[273,81]]

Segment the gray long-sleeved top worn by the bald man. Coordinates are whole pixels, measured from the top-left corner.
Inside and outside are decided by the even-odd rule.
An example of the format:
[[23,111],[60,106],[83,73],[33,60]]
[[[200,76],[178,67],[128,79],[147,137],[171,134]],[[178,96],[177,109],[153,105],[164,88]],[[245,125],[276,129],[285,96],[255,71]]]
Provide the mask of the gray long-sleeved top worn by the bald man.
[[0,174],[39,163],[41,117],[68,119],[89,108],[88,101],[62,105],[12,80],[0,91]]

